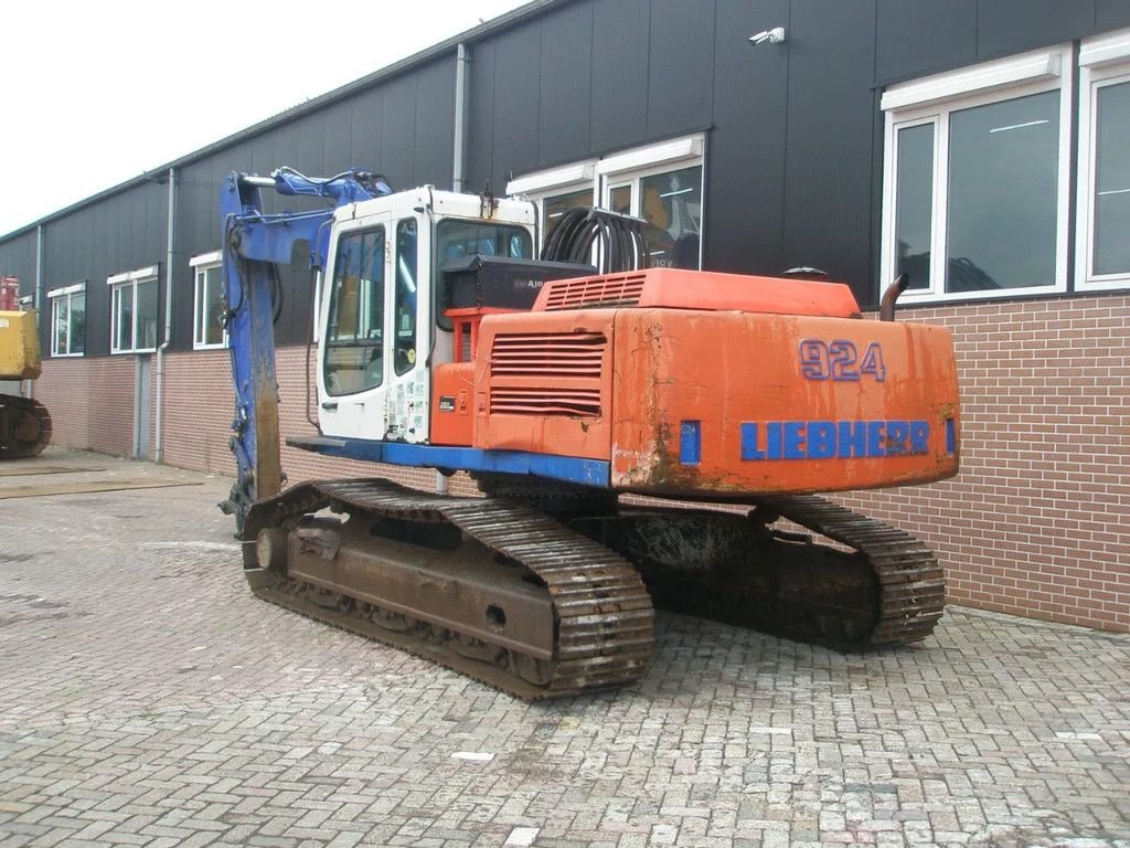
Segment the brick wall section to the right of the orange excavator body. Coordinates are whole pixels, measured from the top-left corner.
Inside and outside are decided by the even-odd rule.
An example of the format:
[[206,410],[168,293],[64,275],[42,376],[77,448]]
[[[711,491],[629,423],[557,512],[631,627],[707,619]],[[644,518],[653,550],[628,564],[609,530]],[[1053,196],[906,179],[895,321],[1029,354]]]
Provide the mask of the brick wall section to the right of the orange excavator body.
[[899,318],[954,334],[962,470],[842,500],[925,539],[950,600],[1130,632],[1130,297]]

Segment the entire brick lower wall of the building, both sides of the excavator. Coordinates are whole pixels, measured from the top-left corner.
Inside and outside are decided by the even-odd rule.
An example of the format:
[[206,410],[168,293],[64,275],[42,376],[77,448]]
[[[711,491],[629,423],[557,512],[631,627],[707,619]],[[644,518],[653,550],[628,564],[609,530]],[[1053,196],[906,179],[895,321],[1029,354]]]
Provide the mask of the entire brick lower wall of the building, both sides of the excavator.
[[[904,309],[899,318],[954,332],[962,473],[930,486],[841,500],[925,539],[946,566],[953,602],[1130,632],[1130,297]],[[304,414],[305,367],[305,347],[279,351],[287,435],[314,433]],[[84,370],[90,372],[86,381]],[[124,388],[111,389],[111,378]],[[95,450],[113,443],[123,447],[111,452],[128,453],[132,381],[132,357],[56,360],[46,363],[37,392],[52,405],[64,438],[86,432],[80,401],[89,398],[87,442],[63,443]],[[234,474],[227,352],[169,355],[165,381],[165,461]],[[105,397],[128,414],[111,415]],[[121,434],[111,438],[115,422]],[[425,490],[435,483],[429,469],[289,448],[282,467],[292,483],[373,475]],[[464,476],[453,479],[452,492],[473,491]]]

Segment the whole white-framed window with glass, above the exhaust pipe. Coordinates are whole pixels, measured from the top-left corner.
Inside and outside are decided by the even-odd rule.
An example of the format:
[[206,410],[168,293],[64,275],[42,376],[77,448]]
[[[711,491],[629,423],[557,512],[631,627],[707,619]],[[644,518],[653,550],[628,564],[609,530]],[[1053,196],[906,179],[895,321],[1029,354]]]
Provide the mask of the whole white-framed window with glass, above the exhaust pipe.
[[889,88],[881,285],[909,274],[909,302],[1066,291],[1070,97],[1066,47]]

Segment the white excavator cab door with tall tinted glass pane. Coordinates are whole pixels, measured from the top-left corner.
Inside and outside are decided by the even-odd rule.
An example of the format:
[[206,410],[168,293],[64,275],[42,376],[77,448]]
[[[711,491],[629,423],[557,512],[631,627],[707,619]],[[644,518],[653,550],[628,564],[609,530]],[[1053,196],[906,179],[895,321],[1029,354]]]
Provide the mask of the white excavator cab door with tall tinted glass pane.
[[388,215],[375,215],[334,227],[318,356],[325,435],[383,439],[388,430],[389,224]]

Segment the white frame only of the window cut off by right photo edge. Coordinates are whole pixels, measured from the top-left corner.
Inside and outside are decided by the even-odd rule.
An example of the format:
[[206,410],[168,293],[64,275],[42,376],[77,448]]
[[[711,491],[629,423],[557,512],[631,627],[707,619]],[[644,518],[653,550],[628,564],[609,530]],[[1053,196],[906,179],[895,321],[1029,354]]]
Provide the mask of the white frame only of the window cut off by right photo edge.
[[[1130,271],[1092,274],[1094,262],[1095,122],[1098,92],[1130,81],[1130,29],[1087,38],[1079,50],[1079,175],[1076,206],[1075,287],[1109,292],[1130,287]],[[1130,141],[1128,141],[1130,144]]]

